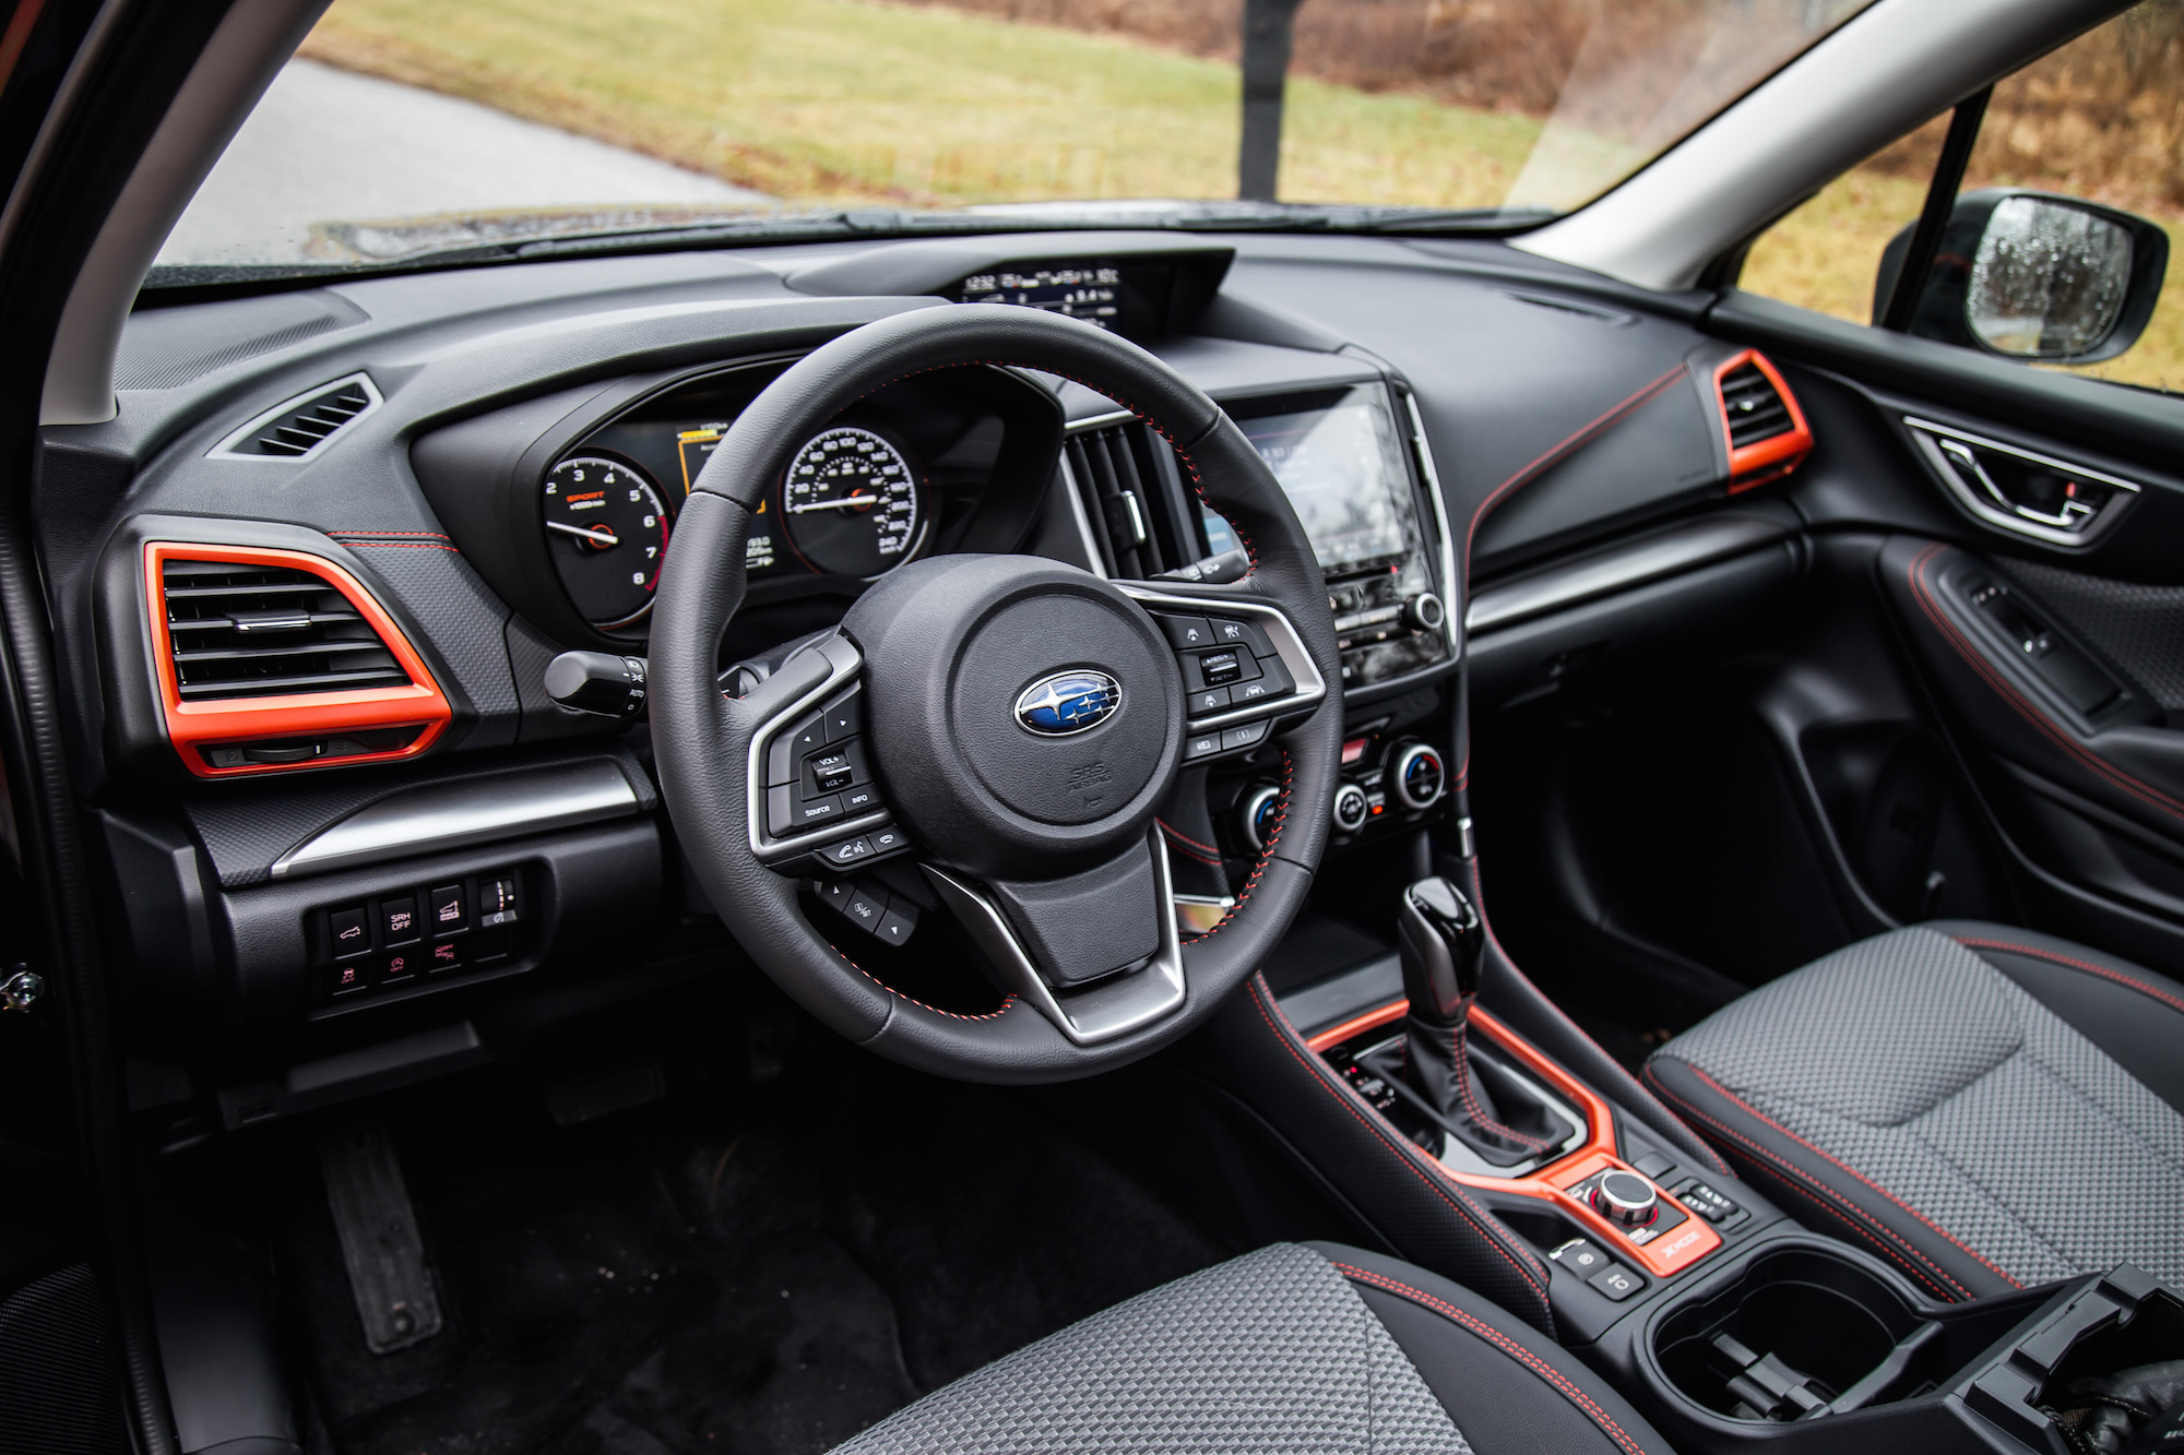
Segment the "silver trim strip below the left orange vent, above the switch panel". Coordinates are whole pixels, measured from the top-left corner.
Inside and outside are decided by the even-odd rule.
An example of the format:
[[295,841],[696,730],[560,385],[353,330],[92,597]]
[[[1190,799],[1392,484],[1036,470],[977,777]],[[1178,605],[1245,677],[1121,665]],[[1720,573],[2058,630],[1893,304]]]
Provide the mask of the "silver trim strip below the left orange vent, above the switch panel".
[[642,813],[614,762],[592,758],[404,789],[321,828],[273,861],[273,878],[332,874],[389,859],[544,835]]

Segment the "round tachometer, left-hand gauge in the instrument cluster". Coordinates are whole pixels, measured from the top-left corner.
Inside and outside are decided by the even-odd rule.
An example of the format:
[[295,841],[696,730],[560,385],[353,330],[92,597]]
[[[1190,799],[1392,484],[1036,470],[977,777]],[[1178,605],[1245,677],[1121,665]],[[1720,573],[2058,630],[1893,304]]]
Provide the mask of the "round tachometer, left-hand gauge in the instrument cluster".
[[653,610],[668,511],[636,465],[596,454],[546,472],[546,551],[570,601],[594,627],[627,627]]

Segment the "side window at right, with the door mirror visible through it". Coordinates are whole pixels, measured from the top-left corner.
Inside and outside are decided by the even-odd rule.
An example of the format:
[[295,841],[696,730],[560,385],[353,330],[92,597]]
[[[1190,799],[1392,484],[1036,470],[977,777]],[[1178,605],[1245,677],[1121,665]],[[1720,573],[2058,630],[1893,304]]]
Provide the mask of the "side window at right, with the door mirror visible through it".
[[1837,177],[1760,234],[1736,284],[2184,393],[2180,223],[2184,2],[2140,0]]

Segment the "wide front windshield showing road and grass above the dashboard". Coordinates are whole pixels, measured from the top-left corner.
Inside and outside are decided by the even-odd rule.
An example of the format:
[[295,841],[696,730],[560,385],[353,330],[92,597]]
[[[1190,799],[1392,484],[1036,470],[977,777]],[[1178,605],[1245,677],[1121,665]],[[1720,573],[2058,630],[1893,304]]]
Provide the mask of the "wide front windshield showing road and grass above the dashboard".
[[1507,229],[1865,2],[336,0],[151,282],[996,210]]

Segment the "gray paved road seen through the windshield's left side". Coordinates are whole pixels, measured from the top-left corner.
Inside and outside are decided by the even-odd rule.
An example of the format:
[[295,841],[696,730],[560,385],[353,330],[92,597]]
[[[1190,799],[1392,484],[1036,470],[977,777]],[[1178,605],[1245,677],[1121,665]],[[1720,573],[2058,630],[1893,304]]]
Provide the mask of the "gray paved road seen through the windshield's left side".
[[583,205],[753,205],[760,192],[413,85],[290,61],[159,262],[295,262],[314,223]]

